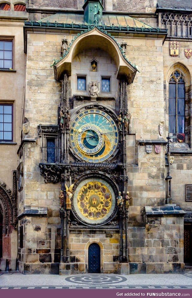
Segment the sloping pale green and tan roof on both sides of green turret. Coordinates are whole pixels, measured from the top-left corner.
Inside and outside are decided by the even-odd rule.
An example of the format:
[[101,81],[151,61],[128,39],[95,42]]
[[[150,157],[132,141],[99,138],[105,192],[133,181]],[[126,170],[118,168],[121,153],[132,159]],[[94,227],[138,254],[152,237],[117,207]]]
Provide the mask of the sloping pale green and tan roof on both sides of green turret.
[[[44,19],[41,19],[42,23],[55,23],[55,21],[58,24],[66,23],[66,24],[87,24],[84,22],[84,15],[80,14],[70,14],[70,13],[61,13],[61,14],[53,14],[49,17],[46,17]],[[137,27],[137,28],[152,28],[151,26],[129,16],[125,15],[115,15],[115,14],[103,14],[102,22],[98,25],[105,25],[110,27]]]

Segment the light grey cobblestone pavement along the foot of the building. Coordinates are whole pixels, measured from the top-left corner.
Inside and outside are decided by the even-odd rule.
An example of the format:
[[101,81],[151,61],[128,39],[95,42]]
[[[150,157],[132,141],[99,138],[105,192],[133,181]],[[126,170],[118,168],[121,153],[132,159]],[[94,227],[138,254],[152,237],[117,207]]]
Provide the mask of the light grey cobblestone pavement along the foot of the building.
[[184,274],[69,276],[0,272],[0,289],[192,289],[192,270]]

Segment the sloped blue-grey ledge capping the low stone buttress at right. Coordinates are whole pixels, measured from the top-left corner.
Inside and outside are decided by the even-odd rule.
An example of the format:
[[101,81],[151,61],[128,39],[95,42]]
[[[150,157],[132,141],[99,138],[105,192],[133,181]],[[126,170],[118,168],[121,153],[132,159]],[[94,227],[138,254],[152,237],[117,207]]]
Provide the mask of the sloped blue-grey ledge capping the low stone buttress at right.
[[145,215],[153,216],[184,216],[186,212],[176,204],[166,204],[165,206],[145,206]]

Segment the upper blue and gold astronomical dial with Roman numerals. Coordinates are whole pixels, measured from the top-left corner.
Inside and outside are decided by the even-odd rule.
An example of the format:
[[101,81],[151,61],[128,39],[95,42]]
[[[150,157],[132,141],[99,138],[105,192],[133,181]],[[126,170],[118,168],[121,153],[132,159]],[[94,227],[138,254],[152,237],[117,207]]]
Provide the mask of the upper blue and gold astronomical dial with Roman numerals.
[[107,160],[116,151],[119,135],[115,121],[105,111],[89,109],[74,119],[70,142],[76,155],[89,163]]

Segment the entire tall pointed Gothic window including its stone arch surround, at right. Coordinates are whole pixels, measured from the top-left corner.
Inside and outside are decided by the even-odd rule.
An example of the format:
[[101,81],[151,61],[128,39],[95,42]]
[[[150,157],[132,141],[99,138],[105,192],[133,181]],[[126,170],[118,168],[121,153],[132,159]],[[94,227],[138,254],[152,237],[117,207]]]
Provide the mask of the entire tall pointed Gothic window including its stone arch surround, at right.
[[168,76],[168,133],[173,143],[190,145],[190,76],[180,64]]

